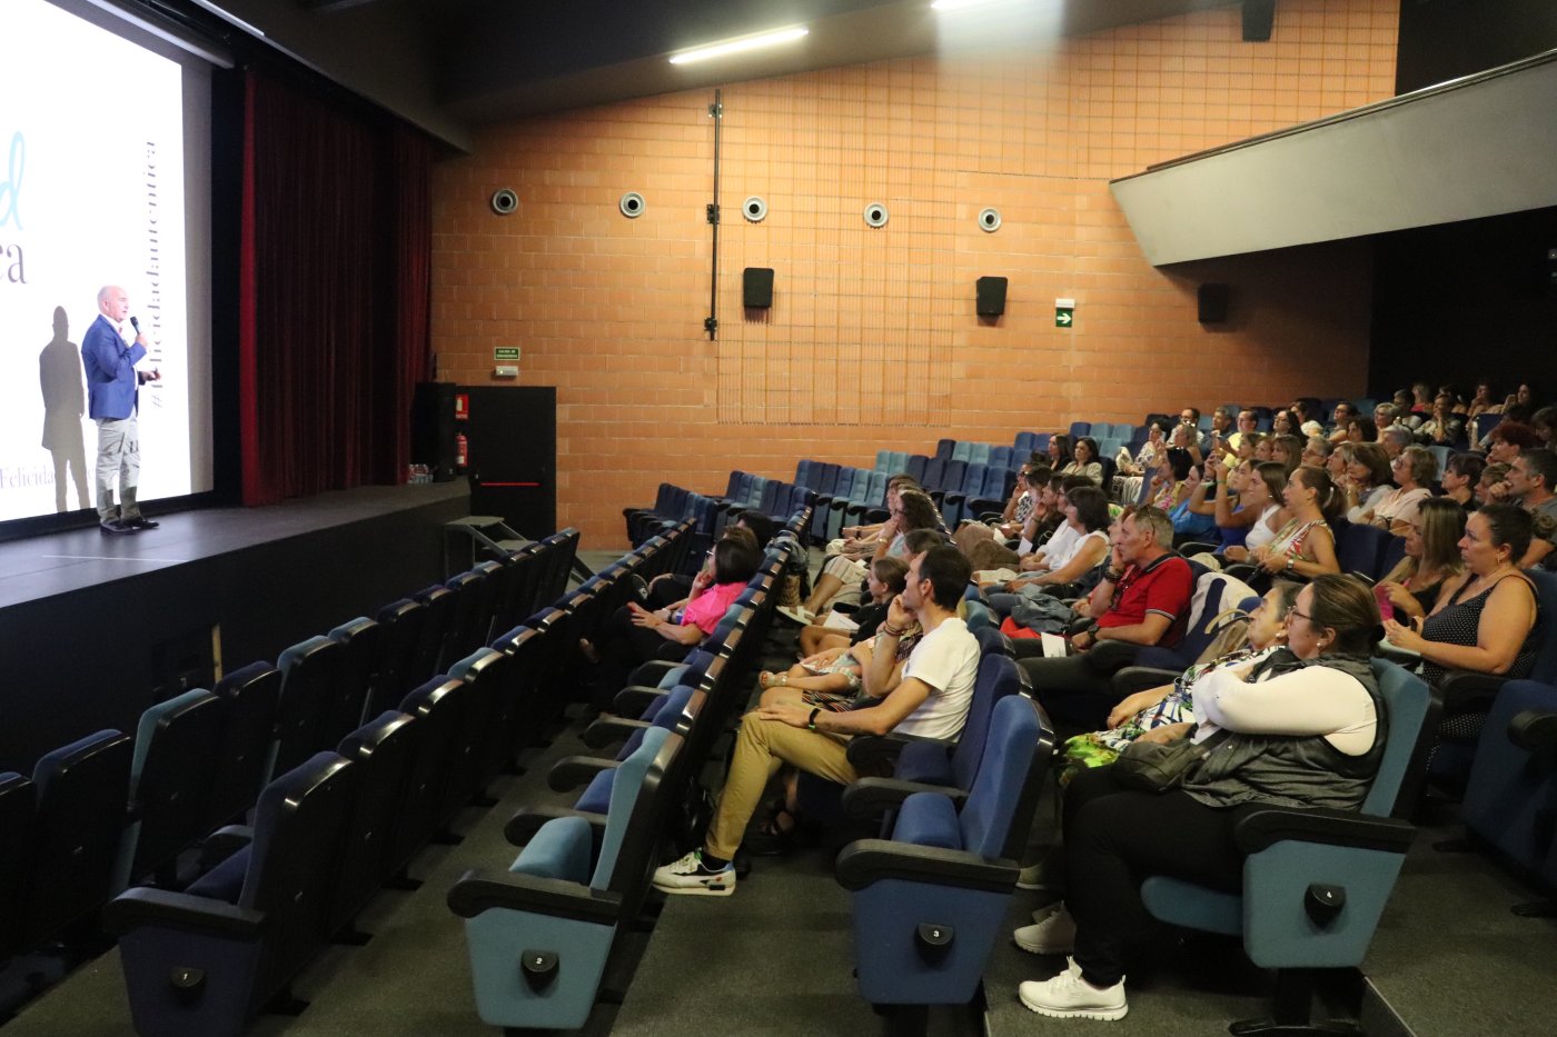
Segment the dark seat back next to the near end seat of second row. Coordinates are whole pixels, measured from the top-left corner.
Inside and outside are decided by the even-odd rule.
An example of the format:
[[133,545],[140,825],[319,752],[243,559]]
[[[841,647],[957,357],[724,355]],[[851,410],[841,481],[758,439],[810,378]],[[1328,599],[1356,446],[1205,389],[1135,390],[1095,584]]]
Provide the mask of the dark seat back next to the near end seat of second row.
[[357,914],[395,870],[389,850],[419,735],[420,726],[409,715],[386,710],[341,740],[338,752],[358,777],[329,897],[325,931],[336,940],[366,942],[355,931]]

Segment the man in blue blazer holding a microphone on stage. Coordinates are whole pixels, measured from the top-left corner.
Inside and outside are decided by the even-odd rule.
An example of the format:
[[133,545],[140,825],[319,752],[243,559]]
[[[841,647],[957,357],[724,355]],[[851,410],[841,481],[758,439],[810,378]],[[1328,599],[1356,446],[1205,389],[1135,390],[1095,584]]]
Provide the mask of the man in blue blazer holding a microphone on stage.
[[[81,336],[81,364],[87,374],[87,414],[98,425],[97,506],[103,533],[156,529],[159,523],[140,514],[135,486],[140,483],[140,433],[135,406],[140,385],[159,374],[135,371],[146,355],[146,336],[135,327],[126,344],[120,329],[129,315],[129,296],[117,285],[98,291],[98,319]],[[118,476],[120,506],[114,504]]]

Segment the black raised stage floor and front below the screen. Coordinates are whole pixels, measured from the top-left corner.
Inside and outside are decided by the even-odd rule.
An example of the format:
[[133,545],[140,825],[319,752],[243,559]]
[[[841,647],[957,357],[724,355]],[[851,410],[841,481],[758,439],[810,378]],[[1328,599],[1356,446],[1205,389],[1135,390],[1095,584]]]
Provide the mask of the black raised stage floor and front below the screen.
[[159,529],[131,536],[92,526],[0,543],[0,771],[30,772],[104,727],[132,732],[146,705],[213,665],[274,662],[444,579],[442,526],[469,500],[464,480],[372,486],[157,515]]

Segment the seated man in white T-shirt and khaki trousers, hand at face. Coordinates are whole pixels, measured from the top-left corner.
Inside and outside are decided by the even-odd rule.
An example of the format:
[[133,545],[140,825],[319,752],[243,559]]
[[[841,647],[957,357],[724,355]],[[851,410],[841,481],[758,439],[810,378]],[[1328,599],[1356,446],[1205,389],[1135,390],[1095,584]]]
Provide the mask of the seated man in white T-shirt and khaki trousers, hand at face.
[[[828,782],[858,779],[847,757],[853,735],[900,732],[922,738],[956,738],[967,719],[978,676],[978,640],[956,617],[972,576],[954,547],[931,548],[909,564],[908,585],[892,599],[877,634],[877,652],[863,674],[863,708],[833,713],[813,705],[771,702],[741,719],[735,758],[724,780],[719,810],[704,845],[654,872],[654,888],[671,894],[726,897],[735,892],[730,858],[741,845],[768,780],[785,763]],[[897,637],[914,621],[923,638],[887,687]]]

